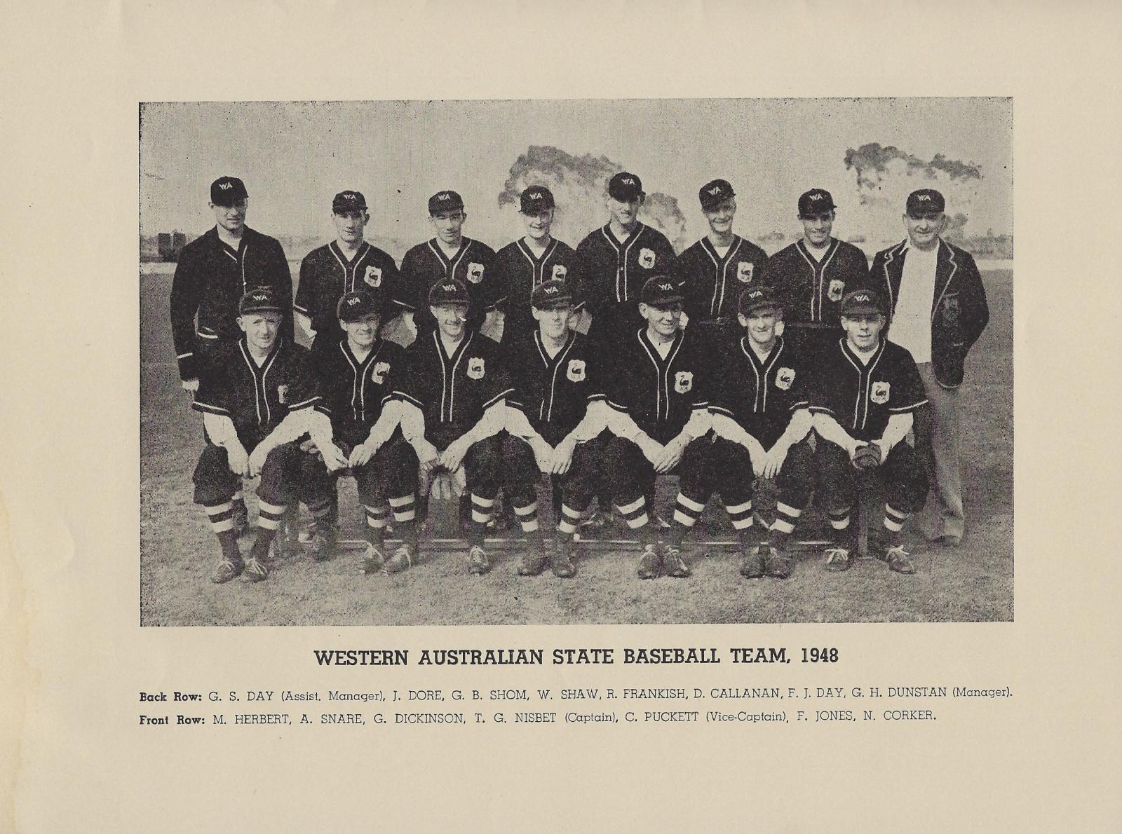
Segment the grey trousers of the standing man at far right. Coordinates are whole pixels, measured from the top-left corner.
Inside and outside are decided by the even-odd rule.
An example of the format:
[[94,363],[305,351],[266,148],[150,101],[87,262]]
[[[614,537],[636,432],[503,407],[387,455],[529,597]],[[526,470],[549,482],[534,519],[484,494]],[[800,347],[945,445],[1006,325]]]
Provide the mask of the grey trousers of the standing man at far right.
[[930,408],[917,413],[916,451],[926,462],[931,499],[916,523],[928,539],[951,536],[962,539],[966,528],[963,481],[959,473],[962,445],[962,388],[944,388],[935,379],[930,362],[916,365]]

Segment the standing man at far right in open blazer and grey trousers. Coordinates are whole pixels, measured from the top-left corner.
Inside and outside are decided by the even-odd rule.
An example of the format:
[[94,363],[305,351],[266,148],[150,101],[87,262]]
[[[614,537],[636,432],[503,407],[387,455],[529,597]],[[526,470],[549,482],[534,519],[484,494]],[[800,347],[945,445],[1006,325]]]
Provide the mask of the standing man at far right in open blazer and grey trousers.
[[927,537],[957,547],[966,529],[962,450],[962,392],[966,354],[990,321],[985,287],[974,258],[939,235],[946,224],[942,195],[921,188],[908,195],[908,238],[877,252],[872,286],[885,293],[892,340],[911,351],[923,381],[929,413],[916,427],[916,444],[930,469],[938,502],[936,519],[921,517]]

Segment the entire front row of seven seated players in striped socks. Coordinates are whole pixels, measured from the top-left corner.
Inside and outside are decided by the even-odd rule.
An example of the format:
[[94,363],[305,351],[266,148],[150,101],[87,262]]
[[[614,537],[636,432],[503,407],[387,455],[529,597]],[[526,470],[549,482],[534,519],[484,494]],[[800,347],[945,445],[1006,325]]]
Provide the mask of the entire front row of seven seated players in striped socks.
[[[715,492],[742,539],[745,577],[790,575],[783,545],[813,489],[822,492],[839,538],[827,568],[845,569],[853,462],[868,446],[888,484],[882,557],[892,569],[912,573],[899,534],[922,507],[927,479],[902,441],[926,399],[908,351],[881,339],[885,313],[875,293],[845,296],[846,335],[812,368],[802,349],[778,334],[782,306],[767,288],[741,294],[743,330],[724,334],[735,343],[714,352],[681,326],[682,281],[655,276],[636,305],[644,324],[605,354],[570,328],[578,306],[570,286],[546,280],[532,295],[537,327],[505,356],[469,326],[470,294],[458,280],[432,287],[426,306],[435,328],[404,350],[378,336],[378,296],[377,289],[344,294],[337,305],[344,335],[319,340],[311,352],[278,337],[286,311],[270,289],[242,297],[245,335],[212,356],[194,404],[208,441],[195,501],[223,554],[214,582],[268,575],[269,545],[294,501],[315,521],[313,556],[325,557],[333,547],[333,481],[347,467],[366,508],[364,573],[395,573],[417,559],[416,498],[434,475],[470,495],[475,574],[490,568],[484,532],[504,489],[528,540],[518,573],[535,575],[549,564],[555,575],[572,576],[577,525],[601,478],[640,536],[642,578],[689,575],[682,540]],[[806,443],[811,428],[815,452]],[[302,446],[304,435],[311,443]],[[259,530],[243,560],[236,493],[241,475],[258,473]],[[561,499],[551,554],[537,520],[540,473],[553,476]],[[659,473],[680,475],[661,548],[650,516]],[[766,544],[753,547],[756,478],[778,479],[779,504]],[[386,558],[390,515],[402,544]]]

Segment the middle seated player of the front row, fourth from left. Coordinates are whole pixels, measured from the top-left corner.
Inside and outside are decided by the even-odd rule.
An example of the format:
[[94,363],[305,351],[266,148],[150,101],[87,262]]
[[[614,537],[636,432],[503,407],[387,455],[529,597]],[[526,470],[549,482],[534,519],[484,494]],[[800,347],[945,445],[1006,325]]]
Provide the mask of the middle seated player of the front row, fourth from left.
[[[594,384],[595,359],[588,341],[569,330],[573,297],[560,280],[534,288],[531,309],[537,330],[513,341],[508,349],[514,392],[507,397],[504,443],[504,489],[530,539],[518,559],[518,573],[535,576],[546,557],[537,523],[539,470],[553,474],[560,489],[558,540],[551,568],[555,576],[577,573],[572,541],[577,522],[592,500],[604,442],[603,395]],[[589,407],[594,399],[597,405]]]

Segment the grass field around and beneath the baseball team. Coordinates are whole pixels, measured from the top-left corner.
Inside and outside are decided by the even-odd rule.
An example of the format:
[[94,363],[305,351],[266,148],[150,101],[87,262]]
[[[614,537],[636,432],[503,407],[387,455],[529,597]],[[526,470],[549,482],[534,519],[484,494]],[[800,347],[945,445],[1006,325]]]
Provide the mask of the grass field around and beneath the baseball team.
[[[914,576],[880,562],[822,571],[799,554],[790,580],[748,582],[736,557],[690,548],[689,580],[635,577],[633,548],[596,548],[572,580],[514,574],[497,553],[469,576],[459,550],[430,553],[396,576],[364,577],[356,555],[312,564],[283,558],[265,583],[212,585],[218,545],[191,502],[202,418],[175,370],[167,302],[171,276],[140,285],[140,620],[145,625],[413,625],[499,623],[733,623],[978,621],[1013,618],[1013,275],[983,270],[990,326],[971,353],[964,389],[963,546],[928,545],[909,529]],[[353,482],[340,490],[343,537],[358,538]],[[250,513],[252,497],[247,495]],[[712,513],[712,508],[708,513]],[[707,515],[708,515],[707,513]],[[243,543],[242,549],[246,549]]]

